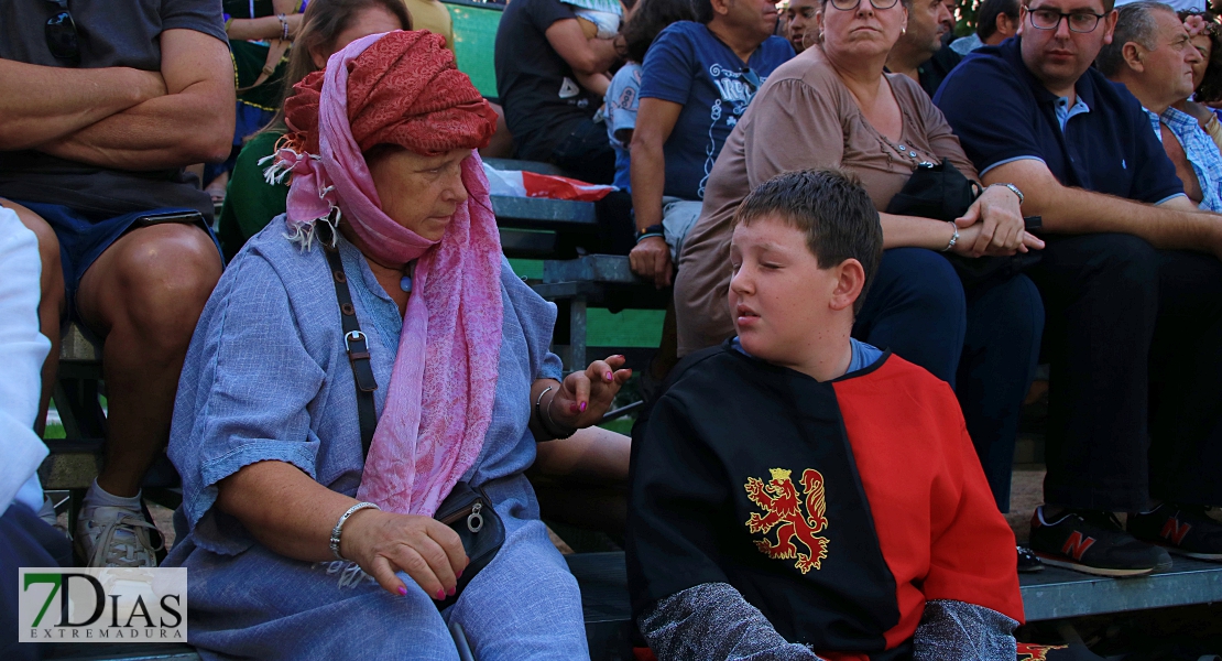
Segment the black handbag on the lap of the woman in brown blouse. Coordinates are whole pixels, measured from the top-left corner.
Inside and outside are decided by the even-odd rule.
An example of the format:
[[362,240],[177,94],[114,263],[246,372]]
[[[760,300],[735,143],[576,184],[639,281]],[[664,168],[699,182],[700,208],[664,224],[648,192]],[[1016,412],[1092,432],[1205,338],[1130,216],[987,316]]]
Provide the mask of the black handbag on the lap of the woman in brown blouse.
[[[968,211],[981,192],[979,183],[963,176],[963,172],[948,160],[943,159],[937,165],[921,163],[913,170],[903,189],[891,198],[886,213],[953,221]],[[1040,216],[1026,216],[1023,220],[1028,232],[1040,228]],[[959,275],[964,288],[1008,280],[1041,259],[1037,250],[1006,257],[963,257],[949,252],[942,255],[954,266],[954,272]]]

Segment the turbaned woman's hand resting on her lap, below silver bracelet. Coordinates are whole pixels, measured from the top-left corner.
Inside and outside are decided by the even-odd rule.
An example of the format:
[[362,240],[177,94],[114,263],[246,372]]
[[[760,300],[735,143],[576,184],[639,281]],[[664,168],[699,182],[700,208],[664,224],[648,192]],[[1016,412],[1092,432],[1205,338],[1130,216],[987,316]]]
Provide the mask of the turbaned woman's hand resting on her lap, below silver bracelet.
[[387,593],[407,595],[407,586],[395,575],[403,571],[437,601],[455,594],[468,562],[458,533],[440,520],[378,509],[348,517],[340,555],[359,564]]

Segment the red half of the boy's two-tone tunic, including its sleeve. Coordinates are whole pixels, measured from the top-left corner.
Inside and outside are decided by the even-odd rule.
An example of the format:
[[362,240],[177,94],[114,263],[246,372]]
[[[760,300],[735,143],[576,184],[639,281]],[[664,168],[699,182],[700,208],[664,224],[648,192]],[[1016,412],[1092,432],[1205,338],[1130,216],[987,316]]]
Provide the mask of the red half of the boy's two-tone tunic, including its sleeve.
[[891,356],[873,374],[835,387],[896,580],[899,623],[886,633],[887,649],[912,638],[931,599],[1023,622],[1014,533],[997,511],[951,386]]

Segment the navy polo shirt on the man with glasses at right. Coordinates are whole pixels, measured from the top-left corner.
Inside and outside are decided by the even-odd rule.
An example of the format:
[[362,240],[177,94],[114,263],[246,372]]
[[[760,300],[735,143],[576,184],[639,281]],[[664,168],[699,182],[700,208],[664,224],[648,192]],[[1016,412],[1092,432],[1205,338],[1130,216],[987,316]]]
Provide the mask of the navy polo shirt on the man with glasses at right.
[[1058,97],[1028,71],[1015,37],[968,55],[934,104],[981,175],[1037,159],[1063,186],[1152,204],[1183,194],[1150,117],[1124,86],[1090,68],[1074,89],[1090,110],[1069,117],[1062,132]]

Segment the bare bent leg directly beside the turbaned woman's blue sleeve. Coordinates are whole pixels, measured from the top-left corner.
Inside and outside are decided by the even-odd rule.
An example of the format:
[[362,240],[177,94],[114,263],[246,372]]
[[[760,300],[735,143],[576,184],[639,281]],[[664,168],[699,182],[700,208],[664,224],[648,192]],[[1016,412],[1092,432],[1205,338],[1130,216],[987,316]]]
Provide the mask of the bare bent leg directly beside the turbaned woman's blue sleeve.
[[98,485],[108,492],[134,496],[165,447],[182,360],[220,275],[203,230],[165,224],[128,232],[81,280],[81,316],[106,338],[109,439]]

